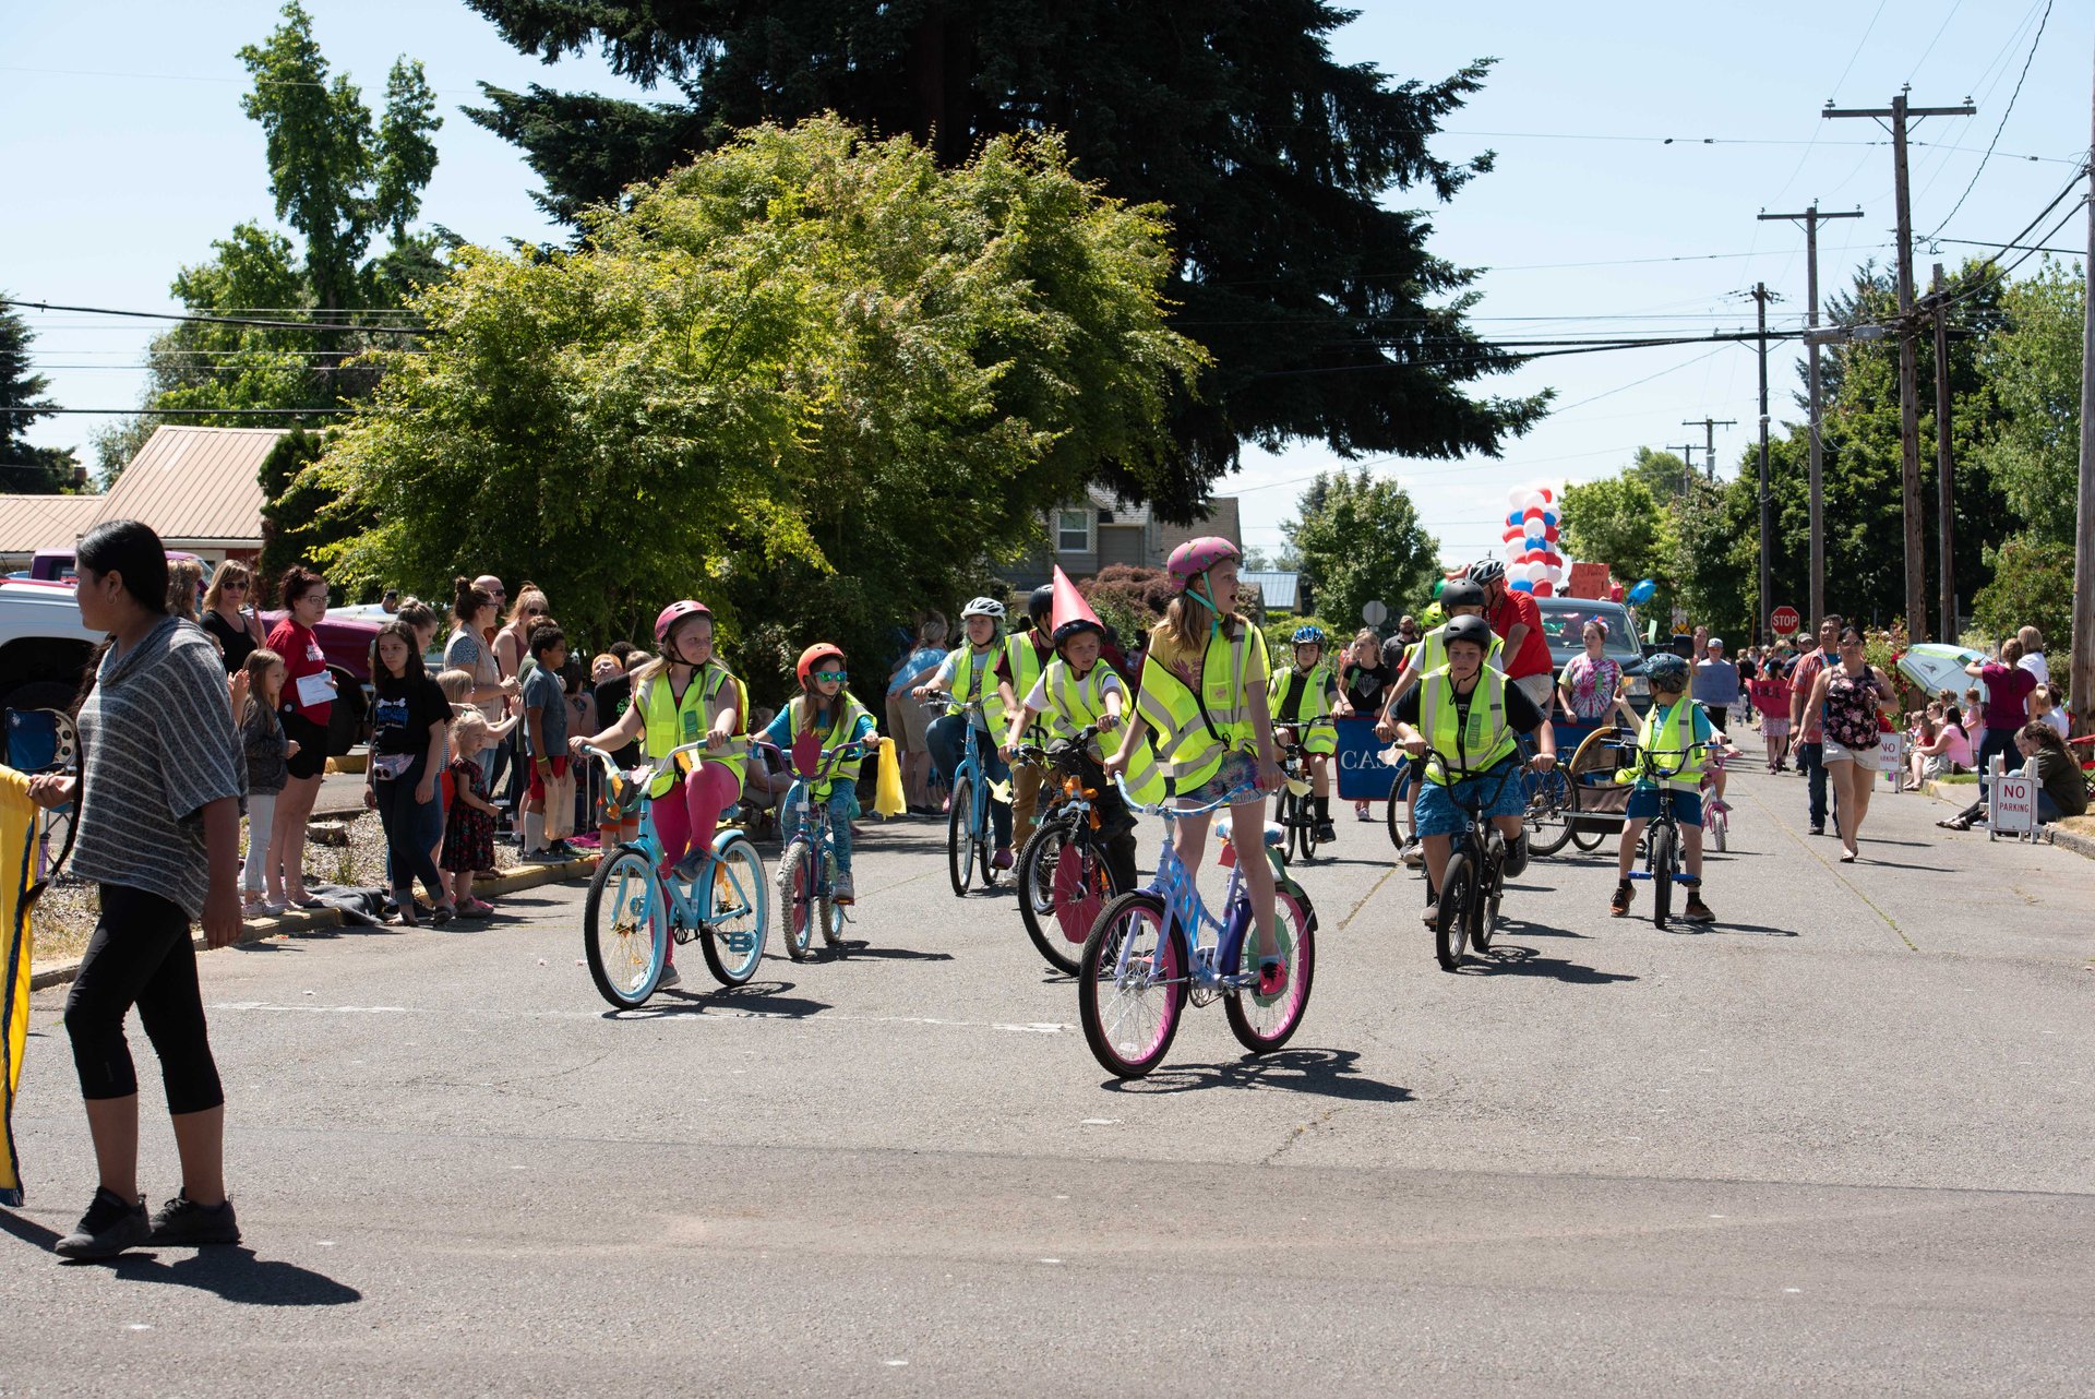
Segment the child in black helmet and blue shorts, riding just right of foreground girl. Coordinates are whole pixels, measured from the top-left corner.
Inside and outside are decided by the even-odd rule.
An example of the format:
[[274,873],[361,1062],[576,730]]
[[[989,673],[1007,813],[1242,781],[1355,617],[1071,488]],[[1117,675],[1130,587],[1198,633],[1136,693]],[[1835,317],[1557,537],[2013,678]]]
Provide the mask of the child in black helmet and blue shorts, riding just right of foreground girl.
[[[1448,593],[1454,593],[1454,584],[1441,597]],[[1519,875],[1527,865],[1527,792],[1515,771],[1521,760],[1517,735],[1536,735],[1529,767],[1538,773],[1557,767],[1557,731],[1548,714],[1510,685],[1504,672],[1485,664],[1496,641],[1492,624],[1481,616],[1456,616],[1439,628],[1439,639],[1448,664],[1427,670],[1393,712],[1397,739],[1412,758],[1425,760],[1429,752],[1441,758],[1425,764],[1416,806],[1427,865],[1427,928],[1435,919],[1454,838],[1469,829],[1469,813],[1460,802],[1490,798],[1481,815],[1506,838],[1506,875]]]

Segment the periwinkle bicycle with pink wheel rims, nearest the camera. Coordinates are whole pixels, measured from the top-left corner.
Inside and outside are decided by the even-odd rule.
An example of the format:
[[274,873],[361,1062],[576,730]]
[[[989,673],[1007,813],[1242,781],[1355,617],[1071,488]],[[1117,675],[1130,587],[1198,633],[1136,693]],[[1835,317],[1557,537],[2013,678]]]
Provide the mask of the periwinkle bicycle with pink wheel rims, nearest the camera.
[[[1121,792],[1127,794],[1125,781]],[[1253,842],[1263,838],[1259,848],[1274,865],[1280,978],[1270,991],[1259,991],[1257,934],[1251,928],[1251,892],[1236,834],[1228,823],[1217,829],[1221,863],[1230,869],[1221,905],[1226,915],[1219,919],[1207,911],[1171,842],[1179,817],[1217,810],[1253,794],[1253,787],[1240,787],[1211,806],[1194,808],[1171,808],[1169,802],[1142,806],[1127,798],[1129,808],[1163,817],[1165,848],[1156,861],[1156,880],[1104,907],[1077,968],[1083,1037],[1100,1066],[1119,1079],[1140,1079],[1163,1062],[1188,1001],[1211,1005],[1221,999],[1230,1030],[1253,1053],[1270,1053],[1288,1043],[1309,1007],[1316,909],[1309,894],[1288,878],[1288,863],[1278,850],[1280,829],[1265,827],[1253,836]],[[1203,932],[1213,932],[1215,940],[1205,940]]]

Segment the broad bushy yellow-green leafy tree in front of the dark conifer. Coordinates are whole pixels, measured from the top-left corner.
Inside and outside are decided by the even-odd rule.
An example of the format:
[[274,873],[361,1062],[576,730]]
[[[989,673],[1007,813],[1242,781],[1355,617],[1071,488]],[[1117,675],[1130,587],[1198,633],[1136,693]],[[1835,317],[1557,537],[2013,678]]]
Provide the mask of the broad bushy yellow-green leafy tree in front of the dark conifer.
[[310,469],[377,519],[331,568],[528,576],[591,639],[696,595],[763,689],[815,639],[872,660],[1037,545],[1094,461],[1165,469],[1200,367],[1167,270],[1156,214],[1054,140],[939,170],[834,117],[746,132],[582,247],[467,249],[415,302],[425,352]]

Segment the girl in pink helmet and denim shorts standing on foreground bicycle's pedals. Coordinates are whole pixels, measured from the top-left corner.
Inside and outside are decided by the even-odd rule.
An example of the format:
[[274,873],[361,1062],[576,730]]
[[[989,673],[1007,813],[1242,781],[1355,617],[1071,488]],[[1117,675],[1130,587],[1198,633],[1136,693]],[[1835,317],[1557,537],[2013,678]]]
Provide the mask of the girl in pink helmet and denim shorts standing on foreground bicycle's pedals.
[[[1274,867],[1261,848],[1265,792],[1280,787],[1280,754],[1265,708],[1265,635],[1236,612],[1240,557],[1236,545],[1213,534],[1171,551],[1165,568],[1179,593],[1150,630],[1135,718],[1106,760],[1106,775],[1127,773],[1129,790],[1142,800],[1161,798],[1169,779],[1173,796],[1188,806],[1249,792],[1230,804],[1230,829],[1240,842],[1236,867],[1244,873],[1257,930],[1257,995],[1280,995],[1286,963],[1274,930]],[[1154,760],[1146,748],[1150,733],[1156,735]],[[1200,871],[1211,815],[1182,817],[1173,829],[1188,878]]]

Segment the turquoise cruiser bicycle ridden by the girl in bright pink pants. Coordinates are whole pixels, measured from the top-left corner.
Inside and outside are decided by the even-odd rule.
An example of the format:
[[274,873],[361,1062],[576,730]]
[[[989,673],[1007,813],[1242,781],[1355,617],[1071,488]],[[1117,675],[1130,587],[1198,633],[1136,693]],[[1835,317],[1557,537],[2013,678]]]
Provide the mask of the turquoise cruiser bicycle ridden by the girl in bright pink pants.
[[[605,850],[589,880],[582,951],[597,991],[620,1009],[645,1003],[662,984],[670,938],[679,945],[696,938],[706,968],[723,986],[748,982],[765,955],[771,917],[769,882],[756,846],[740,825],[723,825],[712,838],[706,867],[687,886],[662,867],[662,838],[647,798],[647,787],[679,756],[719,756],[719,750],[708,750],[704,741],[683,743],[631,773],[620,771],[601,748],[582,743],[578,752],[603,764],[605,808],[614,817],[641,819],[639,840]],[[748,752],[748,741],[737,741],[727,752]]]

